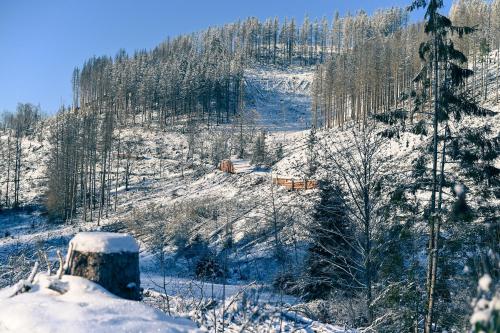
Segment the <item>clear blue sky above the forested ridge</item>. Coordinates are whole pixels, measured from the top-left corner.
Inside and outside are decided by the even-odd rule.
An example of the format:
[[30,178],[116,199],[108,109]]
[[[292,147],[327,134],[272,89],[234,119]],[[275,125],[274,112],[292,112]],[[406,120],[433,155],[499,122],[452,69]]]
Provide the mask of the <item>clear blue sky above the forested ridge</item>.
[[[1,0],[0,112],[71,103],[71,72],[93,55],[150,49],[167,36],[256,16],[331,18],[402,0]],[[445,0],[446,11],[452,0]]]

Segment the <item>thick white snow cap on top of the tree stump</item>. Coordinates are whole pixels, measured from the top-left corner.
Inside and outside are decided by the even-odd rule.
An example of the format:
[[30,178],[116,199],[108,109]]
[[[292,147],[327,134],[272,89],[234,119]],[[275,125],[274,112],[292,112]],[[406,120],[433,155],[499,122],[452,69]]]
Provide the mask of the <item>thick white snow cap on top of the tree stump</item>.
[[69,242],[69,248],[90,253],[139,252],[132,236],[113,232],[80,232]]

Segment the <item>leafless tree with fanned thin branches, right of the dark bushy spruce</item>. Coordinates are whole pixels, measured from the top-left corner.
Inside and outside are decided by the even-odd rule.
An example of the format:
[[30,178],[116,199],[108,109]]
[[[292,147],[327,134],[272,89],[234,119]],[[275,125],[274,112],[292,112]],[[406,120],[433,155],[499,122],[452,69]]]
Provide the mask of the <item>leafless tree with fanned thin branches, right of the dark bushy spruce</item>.
[[[323,148],[321,165],[331,181],[345,191],[347,214],[355,225],[355,238],[344,236],[344,241],[358,257],[345,273],[351,276],[353,285],[363,290],[370,325],[374,319],[374,248],[379,245],[374,239],[383,230],[382,213],[387,204],[381,191],[382,187],[391,186],[389,179],[394,169],[385,150],[387,139],[378,134],[373,122],[366,122],[359,129],[352,127],[348,133],[343,138],[327,137],[319,142]],[[339,237],[338,233],[336,236]]]

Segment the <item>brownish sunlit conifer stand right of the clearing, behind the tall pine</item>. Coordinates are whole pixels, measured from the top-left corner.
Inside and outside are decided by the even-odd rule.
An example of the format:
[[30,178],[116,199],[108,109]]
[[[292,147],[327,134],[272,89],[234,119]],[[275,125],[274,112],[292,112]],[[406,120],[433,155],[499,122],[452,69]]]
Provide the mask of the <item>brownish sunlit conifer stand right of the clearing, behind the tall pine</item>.
[[[404,17],[404,16],[403,16]],[[499,100],[500,55],[490,58],[500,43],[500,2],[495,0],[460,0],[454,3],[450,17],[459,26],[475,29],[474,34],[459,38],[453,32],[451,41],[467,57],[465,67],[476,74],[467,78],[467,89],[486,100],[489,91],[496,90]],[[357,29],[352,38],[341,35],[339,47],[332,57],[320,65],[313,86],[313,126],[342,126],[346,121],[360,121],[376,113],[396,109],[408,110],[413,121],[415,113],[425,106],[415,100],[418,90],[427,96],[435,91],[428,80],[414,80],[420,71],[419,50],[425,40],[423,23],[396,24],[392,29],[380,29],[376,17],[358,15]],[[404,22],[396,20],[395,22]],[[349,26],[348,18],[339,19],[339,26]],[[341,30],[341,29],[340,29]],[[353,43],[354,41],[354,43]],[[496,77],[488,76],[488,67],[496,61]]]

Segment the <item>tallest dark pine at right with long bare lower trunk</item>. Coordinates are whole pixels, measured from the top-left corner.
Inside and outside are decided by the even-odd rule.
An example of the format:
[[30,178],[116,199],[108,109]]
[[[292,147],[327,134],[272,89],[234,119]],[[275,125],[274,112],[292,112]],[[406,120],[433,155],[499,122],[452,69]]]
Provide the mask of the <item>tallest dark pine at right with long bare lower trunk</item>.
[[[429,102],[432,110],[432,168],[431,168],[431,199],[427,211],[429,221],[429,246],[428,246],[428,268],[427,268],[427,305],[424,330],[431,332],[435,318],[434,306],[437,302],[437,285],[441,228],[443,222],[443,188],[446,185],[445,163],[447,141],[451,137],[448,120],[453,117],[460,121],[464,114],[485,114],[485,111],[477,106],[475,101],[464,89],[465,80],[473,73],[467,68],[461,67],[467,63],[463,53],[455,49],[450,36],[452,34],[462,37],[474,31],[469,27],[454,26],[450,19],[441,15],[438,11],[443,7],[442,0],[417,0],[412,3],[410,10],[425,7],[425,32],[429,39],[420,45],[419,56],[422,60],[422,69],[415,78],[415,82],[425,86],[425,82],[431,82],[432,99],[425,92],[418,95],[420,103]],[[417,105],[418,103],[415,103]],[[440,134],[440,124],[444,133]],[[441,152],[438,151],[441,141]],[[441,161],[438,165],[438,159]],[[444,272],[443,272],[444,274]]]

